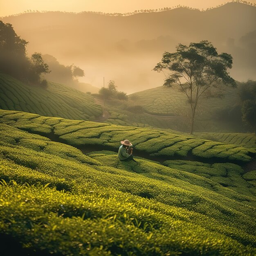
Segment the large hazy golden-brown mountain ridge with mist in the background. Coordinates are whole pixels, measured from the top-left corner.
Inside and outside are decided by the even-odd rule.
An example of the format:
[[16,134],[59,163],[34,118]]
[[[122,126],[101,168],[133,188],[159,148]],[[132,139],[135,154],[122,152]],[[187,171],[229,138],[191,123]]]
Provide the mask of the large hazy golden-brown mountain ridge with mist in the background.
[[178,43],[200,40],[234,57],[234,79],[256,79],[256,7],[247,4],[131,16],[26,13],[2,20],[30,42],[29,52],[51,54],[65,65],[74,62],[85,70],[83,81],[99,87],[103,76],[128,93],[162,85],[164,77],[151,71],[162,53],[175,51]]

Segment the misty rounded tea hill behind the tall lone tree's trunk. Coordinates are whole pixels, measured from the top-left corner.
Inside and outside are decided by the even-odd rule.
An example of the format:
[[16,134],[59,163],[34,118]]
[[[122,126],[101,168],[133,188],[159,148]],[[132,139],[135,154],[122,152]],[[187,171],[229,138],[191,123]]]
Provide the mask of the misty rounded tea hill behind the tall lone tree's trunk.
[[[224,118],[227,112],[237,111],[236,107],[239,107],[238,89],[224,87],[222,93],[221,97],[199,101],[194,126],[196,132],[243,132],[242,120]],[[164,86],[130,94],[129,101],[106,101],[105,108],[110,113],[106,119],[110,124],[190,130],[191,108],[186,95]]]

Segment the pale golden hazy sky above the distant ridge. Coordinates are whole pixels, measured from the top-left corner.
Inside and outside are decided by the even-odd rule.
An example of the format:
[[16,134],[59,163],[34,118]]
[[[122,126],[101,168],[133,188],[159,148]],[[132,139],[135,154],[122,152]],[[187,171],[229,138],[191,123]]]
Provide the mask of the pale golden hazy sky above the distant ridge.
[[[38,11],[102,11],[131,12],[140,9],[158,9],[178,4],[192,8],[207,9],[228,0],[0,0],[0,16],[20,13],[26,10]],[[256,3],[256,0],[250,0]]]

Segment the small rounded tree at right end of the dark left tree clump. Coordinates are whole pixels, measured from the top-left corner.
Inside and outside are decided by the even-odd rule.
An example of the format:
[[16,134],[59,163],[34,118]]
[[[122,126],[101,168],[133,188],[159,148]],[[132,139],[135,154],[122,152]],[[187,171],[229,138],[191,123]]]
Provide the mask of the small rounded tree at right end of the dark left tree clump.
[[34,82],[40,80],[41,74],[46,74],[51,72],[49,66],[43,60],[42,54],[35,52],[31,55],[31,77],[30,79]]

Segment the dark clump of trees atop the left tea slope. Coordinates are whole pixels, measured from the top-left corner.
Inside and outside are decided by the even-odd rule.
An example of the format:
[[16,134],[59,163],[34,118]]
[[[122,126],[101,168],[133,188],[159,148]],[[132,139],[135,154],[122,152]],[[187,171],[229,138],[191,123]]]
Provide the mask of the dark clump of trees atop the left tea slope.
[[[40,75],[49,73],[49,66],[40,53],[29,58],[26,54],[28,42],[18,36],[10,23],[0,20],[0,72],[22,81],[40,82]],[[45,81],[43,81],[45,85]]]

